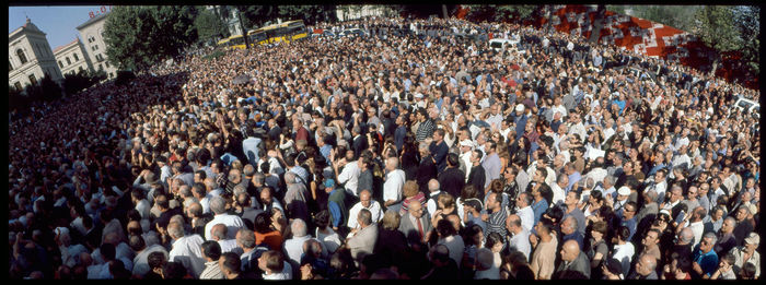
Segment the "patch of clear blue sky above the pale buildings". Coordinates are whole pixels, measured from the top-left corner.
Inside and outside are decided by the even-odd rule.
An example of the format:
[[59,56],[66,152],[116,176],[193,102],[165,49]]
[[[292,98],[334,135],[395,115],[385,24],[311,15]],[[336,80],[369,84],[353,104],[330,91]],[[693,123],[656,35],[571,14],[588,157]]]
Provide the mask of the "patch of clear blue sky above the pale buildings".
[[[108,5],[106,10],[108,11]],[[56,49],[79,37],[77,26],[90,20],[89,12],[95,14],[97,11],[101,11],[101,5],[9,7],[8,33],[23,26],[28,16],[46,34],[50,48]]]

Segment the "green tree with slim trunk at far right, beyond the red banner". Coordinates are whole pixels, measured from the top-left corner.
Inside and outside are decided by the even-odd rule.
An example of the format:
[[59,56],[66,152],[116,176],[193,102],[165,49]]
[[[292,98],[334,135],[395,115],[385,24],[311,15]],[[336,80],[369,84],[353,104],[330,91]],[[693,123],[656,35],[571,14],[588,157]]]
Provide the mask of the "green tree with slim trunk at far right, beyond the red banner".
[[710,74],[716,74],[721,54],[742,48],[742,38],[733,23],[733,10],[728,5],[707,5],[697,10],[697,28],[694,33],[711,50]]

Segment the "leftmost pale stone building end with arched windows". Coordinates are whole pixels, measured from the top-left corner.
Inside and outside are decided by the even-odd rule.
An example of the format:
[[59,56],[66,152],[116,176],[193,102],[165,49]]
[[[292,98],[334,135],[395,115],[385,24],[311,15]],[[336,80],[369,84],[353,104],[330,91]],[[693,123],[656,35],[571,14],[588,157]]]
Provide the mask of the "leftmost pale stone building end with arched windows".
[[45,75],[59,84],[63,80],[45,33],[30,19],[8,35],[8,83],[18,90],[38,84]]

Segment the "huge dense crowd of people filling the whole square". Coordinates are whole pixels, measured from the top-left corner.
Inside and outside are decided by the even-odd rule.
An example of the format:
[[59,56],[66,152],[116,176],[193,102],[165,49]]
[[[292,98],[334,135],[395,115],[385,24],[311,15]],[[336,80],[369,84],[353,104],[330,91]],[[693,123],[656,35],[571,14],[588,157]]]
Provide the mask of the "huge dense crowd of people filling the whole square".
[[759,92],[548,29],[334,26],[367,35],[190,52],[11,121],[10,276],[759,277],[732,107]]

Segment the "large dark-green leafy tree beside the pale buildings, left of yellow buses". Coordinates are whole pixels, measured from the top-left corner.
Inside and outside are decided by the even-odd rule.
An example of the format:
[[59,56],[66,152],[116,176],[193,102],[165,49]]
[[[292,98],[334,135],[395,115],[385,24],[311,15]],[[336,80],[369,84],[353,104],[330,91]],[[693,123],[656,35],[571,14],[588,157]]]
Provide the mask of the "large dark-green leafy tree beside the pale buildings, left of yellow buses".
[[197,40],[194,7],[115,7],[104,27],[109,62],[142,70]]

